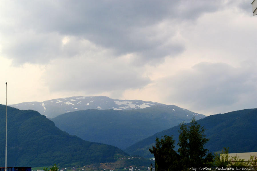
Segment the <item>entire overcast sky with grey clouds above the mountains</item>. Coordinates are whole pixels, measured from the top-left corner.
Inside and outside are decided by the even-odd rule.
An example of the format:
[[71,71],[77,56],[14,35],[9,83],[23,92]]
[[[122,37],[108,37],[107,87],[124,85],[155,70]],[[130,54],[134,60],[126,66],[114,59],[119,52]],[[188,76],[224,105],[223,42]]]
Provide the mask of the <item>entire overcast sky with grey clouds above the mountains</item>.
[[0,0],[0,103],[109,96],[257,108],[252,0]]

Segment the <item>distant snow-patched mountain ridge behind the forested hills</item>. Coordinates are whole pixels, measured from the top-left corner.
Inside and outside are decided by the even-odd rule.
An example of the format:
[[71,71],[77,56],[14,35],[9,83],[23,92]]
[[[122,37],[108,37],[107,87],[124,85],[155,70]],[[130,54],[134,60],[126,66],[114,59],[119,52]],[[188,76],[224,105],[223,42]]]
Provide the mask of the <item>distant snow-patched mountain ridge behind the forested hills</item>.
[[157,102],[146,102],[142,100],[119,100],[111,99],[106,96],[74,96],[67,98],[57,98],[43,102],[23,102],[8,106],[20,110],[36,110],[47,118],[54,118],[59,114],[74,112],[86,109],[114,109],[131,110],[151,107],[154,105],[165,105]]

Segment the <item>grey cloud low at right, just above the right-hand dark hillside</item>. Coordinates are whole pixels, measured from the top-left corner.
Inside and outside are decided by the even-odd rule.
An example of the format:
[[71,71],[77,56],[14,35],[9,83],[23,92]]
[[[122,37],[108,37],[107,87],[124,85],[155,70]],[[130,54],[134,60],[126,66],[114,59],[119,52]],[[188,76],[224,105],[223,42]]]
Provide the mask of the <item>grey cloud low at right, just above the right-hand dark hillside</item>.
[[200,63],[161,84],[169,86],[163,87],[167,90],[166,100],[185,104],[194,111],[242,109],[238,104],[251,108],[257,100],[256,65],[234,68],[224,63]]

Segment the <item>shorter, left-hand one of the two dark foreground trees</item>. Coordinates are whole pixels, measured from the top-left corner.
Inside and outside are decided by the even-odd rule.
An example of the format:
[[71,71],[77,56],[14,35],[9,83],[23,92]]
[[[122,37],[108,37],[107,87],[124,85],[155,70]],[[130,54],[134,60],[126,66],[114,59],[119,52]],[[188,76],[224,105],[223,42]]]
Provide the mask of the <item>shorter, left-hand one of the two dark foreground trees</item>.
[[179,155],[174,150],[174,144],[172,136],[165,135],[161,140],[156,137],[156,146],[149,149],[154,154],[156,171],[178,170]]

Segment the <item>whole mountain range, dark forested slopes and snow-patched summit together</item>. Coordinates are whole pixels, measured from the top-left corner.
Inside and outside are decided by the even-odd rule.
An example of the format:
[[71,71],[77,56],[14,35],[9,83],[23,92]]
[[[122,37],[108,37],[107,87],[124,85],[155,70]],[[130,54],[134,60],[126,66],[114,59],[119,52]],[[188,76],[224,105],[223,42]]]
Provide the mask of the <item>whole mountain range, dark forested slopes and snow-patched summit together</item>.
[[[90,105],[94,109],[81,110]],[[257,151],[257,109],[206,117],[175,105],[105,96],[76,96],[14,106],[22,109],[39,107],[54,122],[33,110],[7,108],[7,134],[10,135],[7,136],[7,156],[13,166],[115,162],[118,157],[128,154],[150,158],[149,148],[155,145],[156,137],[174,135],[177,144],[178,124],[189,122],[192,117],[206,128],[205,134],[210,141],[205,147],[210,152],[220,152],[223,147],[229,147],[230,153]],[[2,137],[5,134],[4,112],[5,106],[0,105]],[[2,138],[1,154],[5,151],[4,144]],[[112,145],[125,149],[125,152]],[[3,165],[4,155],[0,162]]]

